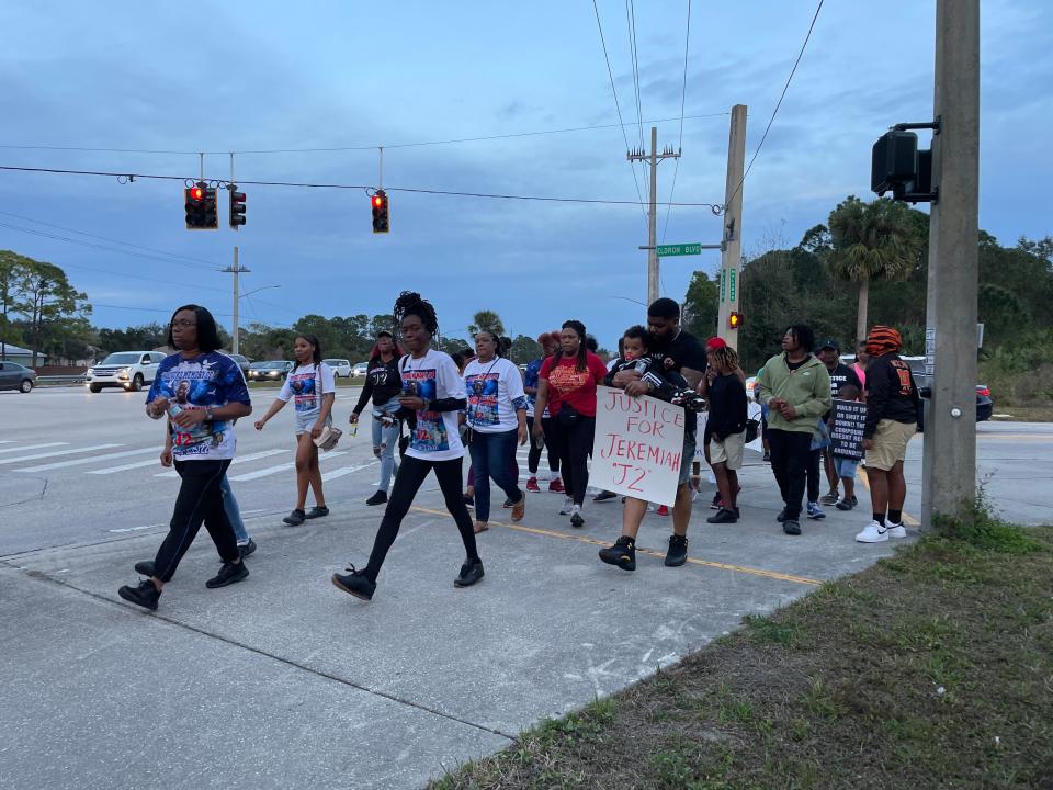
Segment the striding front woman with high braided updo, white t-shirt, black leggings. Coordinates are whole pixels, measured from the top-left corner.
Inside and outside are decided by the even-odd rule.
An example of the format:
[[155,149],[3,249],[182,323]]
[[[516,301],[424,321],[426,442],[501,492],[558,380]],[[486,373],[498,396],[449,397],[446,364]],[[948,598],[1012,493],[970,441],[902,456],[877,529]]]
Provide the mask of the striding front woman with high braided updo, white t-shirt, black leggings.
[[394,317],[401,329],[403,345],[409,352],[398,363],[403,382],[398,402],[401,414],[416,415],[416,426],[395,475],[369,564],[361,571],[351,565],[349,573],[332,575],[337,587],[362,600],[373,598],[384,558],[414,497],[431,471],[439,481],[446,510],[457,523],[467,555],[453,584],[468,587],[483,578],[483,561],[475,548],[472,517],[461,492],[464,444],[457,432],[457,413],[467,406],[464,380],[449,354],[431,348],[431,339],[439,331],[439,319],[429,302],[418,293],[404,291],[395,301]]

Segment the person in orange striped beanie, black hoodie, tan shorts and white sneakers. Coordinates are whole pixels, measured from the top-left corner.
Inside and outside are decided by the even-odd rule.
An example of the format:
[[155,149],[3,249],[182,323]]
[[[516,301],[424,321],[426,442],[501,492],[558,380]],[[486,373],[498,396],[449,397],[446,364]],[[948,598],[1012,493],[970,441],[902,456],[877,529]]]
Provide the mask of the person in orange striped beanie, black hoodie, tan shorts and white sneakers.
[[867,478],[873,521],[856,535],[860,543],[906,538],[903,501],[907,483],[903,461],[907,442],[918,430],[920,400],[910,365],[899,359],[903,339],[891,327],[875,326],[867,336]]

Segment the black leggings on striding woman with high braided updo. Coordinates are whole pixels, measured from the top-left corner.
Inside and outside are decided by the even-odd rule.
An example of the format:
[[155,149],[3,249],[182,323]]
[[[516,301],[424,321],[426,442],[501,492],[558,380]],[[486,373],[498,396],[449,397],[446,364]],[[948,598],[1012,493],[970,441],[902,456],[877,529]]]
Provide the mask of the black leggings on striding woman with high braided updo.
[[395,485],[392,486],[392,497],[384,510],[384,518],[381,519],[381,527],[376,531],[376,539],[373,541],[373,551],[370,554],[370,564],[365,566],[365,576],[371,582],[376,582],[376,576],[381,572],[381,565],[384,564],[384,557],[390,550],[392,544],[398,535],[398,528],[409,512],[409,506],[414,504],[414,497],[420,490],[424,478],[431,470],[435,471],[435,478],[439,481],[439,488],[446,500],[446,510],[457,522],[457,530],[461,532],[461,540],[464,542],[464,550],[467,552],[468,560],[478,560],[479,553],[475,548],[475,530],[472,528],[472,517],[468,515],[468,508],[464,504],[464,496],[461,492],[462,483],[462,459],[451,459],[450,461],[421,461],[412,455],[403,458],[398,465],[398,474],[395,475]]

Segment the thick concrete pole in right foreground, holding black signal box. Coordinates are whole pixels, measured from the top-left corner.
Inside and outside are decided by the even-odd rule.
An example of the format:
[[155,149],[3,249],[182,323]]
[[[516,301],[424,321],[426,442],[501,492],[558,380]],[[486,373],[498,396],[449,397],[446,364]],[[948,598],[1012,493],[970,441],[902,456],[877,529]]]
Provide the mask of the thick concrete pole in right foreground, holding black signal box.
[[980,184],[980,0],[937,0],[921,511],[967,511],[976,496],[976,297]]

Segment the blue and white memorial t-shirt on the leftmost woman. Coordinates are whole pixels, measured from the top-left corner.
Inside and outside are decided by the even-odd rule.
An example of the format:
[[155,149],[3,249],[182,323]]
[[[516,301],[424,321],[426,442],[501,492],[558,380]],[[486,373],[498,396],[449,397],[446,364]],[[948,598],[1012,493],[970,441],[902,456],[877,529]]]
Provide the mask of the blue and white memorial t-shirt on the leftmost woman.
[[[182,354],[166,357],[157,368],[146,402],[168,398],[169,414],[183,409],[219,408],[228,403],[251,405],[245,375],[238,363],[218,351],[184,359]],[[169,421],[172,433],[172,458],[177,461],[225,461],[234,458],[233,420],[199,422],[180,428]]]

